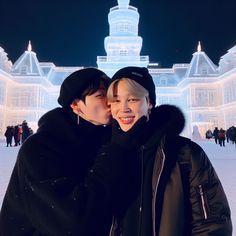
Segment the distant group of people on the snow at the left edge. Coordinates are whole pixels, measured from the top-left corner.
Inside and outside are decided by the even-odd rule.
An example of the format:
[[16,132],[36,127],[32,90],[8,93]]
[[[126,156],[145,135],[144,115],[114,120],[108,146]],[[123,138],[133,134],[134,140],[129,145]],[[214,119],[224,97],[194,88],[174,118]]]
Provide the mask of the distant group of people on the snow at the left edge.
[[33,130],[28,126],[26,120],[24,120],[22,124],[7,126],[4,134],[6,137],[7,147],[12,147],[12,145],[21,145],[31,134],[33,134]]

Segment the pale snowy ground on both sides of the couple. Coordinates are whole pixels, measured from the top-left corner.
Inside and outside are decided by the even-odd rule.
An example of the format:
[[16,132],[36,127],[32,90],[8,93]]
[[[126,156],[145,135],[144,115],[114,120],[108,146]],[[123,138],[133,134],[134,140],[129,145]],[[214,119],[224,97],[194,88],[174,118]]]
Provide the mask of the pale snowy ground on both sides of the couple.
[[[236,229],[236,146],[226,143],[226,147],[220,147],[213,140],[198,143],[209,156],[222,181],[231,207],[233,227]],[[0,207],[18,150],[19,147],[6,147],[0,141]],[[234,231],[236,236],[236,230]]]

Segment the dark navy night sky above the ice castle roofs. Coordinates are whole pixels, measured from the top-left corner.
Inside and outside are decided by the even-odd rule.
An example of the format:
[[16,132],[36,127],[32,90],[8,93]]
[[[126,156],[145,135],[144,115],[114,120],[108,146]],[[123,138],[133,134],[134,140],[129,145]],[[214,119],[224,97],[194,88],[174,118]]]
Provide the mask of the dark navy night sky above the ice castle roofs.
[[[116,0],[0,0],[0,46],[14,63],[31,40],[40,62],[96,66]],[[161,67],[189,63],[200,40],[218,64],[236,45],[236,0],[130,0],[140,13],[141,55]]]

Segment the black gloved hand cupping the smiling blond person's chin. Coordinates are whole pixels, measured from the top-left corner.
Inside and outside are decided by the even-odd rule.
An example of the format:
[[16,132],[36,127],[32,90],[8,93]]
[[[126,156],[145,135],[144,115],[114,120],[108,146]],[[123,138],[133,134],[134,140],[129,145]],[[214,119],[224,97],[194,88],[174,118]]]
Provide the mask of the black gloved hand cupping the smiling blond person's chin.
[[131,129],[124,132],[118,122],[114,119],[112,121],[112,143],[117,144],[126,149],[137,149],[145,142],[143,133],[146,129],[147,117],[142,116]]

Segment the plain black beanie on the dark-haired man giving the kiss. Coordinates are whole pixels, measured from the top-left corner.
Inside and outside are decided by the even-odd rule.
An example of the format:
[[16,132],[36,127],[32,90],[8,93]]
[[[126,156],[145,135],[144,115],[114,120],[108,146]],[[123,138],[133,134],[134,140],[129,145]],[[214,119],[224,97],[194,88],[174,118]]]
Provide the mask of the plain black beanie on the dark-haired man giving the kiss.
[[80,69],[65,78],[61,85],[60,95],[57,99],[62,107],[68,107],[76,98],[80,98],[82,93],[94,80],[108,78],[101,70],[93,67]]

